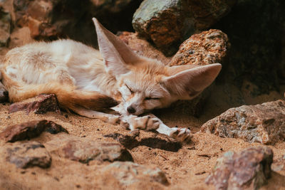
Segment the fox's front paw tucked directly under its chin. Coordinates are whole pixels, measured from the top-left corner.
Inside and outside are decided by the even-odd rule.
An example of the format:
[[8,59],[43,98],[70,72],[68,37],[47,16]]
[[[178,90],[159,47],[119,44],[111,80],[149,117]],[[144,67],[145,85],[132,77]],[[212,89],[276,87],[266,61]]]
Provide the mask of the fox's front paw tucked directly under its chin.
[[120,125],[130,130],[157,130],[160,127],[160,120],[149,115],[143,117],[130,115],[128,119],[122,120]]

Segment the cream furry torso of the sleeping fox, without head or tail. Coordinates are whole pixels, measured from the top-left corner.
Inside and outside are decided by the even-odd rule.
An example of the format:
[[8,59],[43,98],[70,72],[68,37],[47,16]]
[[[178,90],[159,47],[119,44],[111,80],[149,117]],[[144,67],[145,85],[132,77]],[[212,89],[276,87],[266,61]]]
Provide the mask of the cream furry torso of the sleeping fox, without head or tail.
[[[110,97],[118,94],[115,78],[105,71],[100,51],[76,41],[37,42],[14,48],[6,54],[4,63],[4,73],[27,87],[57,83],[61,88],[70,86]],[[17,95],[9,95],[11,101],[28,97],[33,95],[26,93],[21,99]]]

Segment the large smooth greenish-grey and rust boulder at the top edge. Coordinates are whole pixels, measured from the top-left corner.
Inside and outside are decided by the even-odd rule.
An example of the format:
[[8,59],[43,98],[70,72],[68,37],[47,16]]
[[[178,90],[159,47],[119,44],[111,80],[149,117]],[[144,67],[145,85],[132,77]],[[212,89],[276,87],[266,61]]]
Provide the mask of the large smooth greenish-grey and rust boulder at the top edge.
[[133,28],[170,56],[179,43],[212,26],[229,12],[234,3],[235,0],[145,0],[135,11]]

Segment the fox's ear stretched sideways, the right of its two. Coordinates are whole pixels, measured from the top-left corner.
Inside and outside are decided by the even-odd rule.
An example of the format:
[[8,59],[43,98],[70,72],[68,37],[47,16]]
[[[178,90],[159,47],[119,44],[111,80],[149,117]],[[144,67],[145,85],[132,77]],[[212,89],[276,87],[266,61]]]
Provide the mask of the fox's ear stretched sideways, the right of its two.
[[162,79],[162,85],[182,99],[195,97],[207,88],[219,74],[222,65],[214,63],[197,68],[182,70],[175,75]]

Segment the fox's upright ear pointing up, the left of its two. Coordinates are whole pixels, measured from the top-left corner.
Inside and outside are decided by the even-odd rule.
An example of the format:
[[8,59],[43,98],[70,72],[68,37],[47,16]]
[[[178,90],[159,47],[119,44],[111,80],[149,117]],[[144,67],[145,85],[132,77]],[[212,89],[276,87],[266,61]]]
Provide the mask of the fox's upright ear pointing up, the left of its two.
[[92,19],[96,28],[100,53],[110,73],[121,75],[128,72],[128,64],[138,62],[140,57],[127,44],[102,26],[95,18]]

